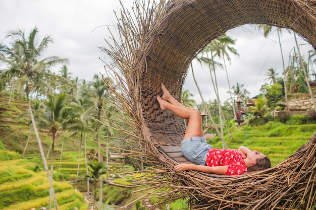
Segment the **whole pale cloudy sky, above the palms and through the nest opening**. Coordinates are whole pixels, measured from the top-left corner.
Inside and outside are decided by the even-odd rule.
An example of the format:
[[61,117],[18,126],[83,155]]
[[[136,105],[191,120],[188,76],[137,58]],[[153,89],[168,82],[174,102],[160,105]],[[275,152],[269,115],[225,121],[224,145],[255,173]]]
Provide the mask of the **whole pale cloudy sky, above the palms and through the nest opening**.
[[[131,11],[132,0],[122,0],[124,7]],[[107,46],[104,39],[110,37],[109,29],[115,32],[117,23],[114,11],[120,14],[119,0],[10,0],[0,1],[0,41],[9,44],[5,39],[8,30],[23,29],[26,34],[37,26],[40,36],[51,35],[54,43],[48,46],[47,56],[59,56],[69,59],[69,71],[79,79],[92,80],[94,74],[104,73],[107,59],[98,47]],[[242,26],[228,31],[228,36],[236,40],[234,46],[239,56],[231,55],[231,64],[227,62],[227,71],[231,86],[237,82],[243,84],[251,96],[259,93],[260,86],[265,84],[267,70],[275,68],[282,76],[282,60],[276,31],[266,39],[255,26]],[[301,53],[308,57],[312,47],[299,38]],[[295,46],[293,33],[282,33],[282,46],[285,65],[288,65],[290,54]],[[315,66],[313,66],[315,67]],[[207,101],[214,99],[209,72],[206,67],[194,63],[195,77]],[[56,69],[59,71],[59,69]],[[217,72],[221,101],[229,95],[224,69]],[[189,72],[184,85],[197,102],[200,98]]]

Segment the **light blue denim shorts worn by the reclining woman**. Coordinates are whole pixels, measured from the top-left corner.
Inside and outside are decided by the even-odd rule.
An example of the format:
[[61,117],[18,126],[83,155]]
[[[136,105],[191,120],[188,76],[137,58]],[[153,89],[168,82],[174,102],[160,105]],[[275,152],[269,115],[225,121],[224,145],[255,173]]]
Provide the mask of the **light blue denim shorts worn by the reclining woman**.
[[183,156],[197,165],[205,165],[209,149],[212,149],[212,146],[206,143],[205,135],[193,136],[181,141]]

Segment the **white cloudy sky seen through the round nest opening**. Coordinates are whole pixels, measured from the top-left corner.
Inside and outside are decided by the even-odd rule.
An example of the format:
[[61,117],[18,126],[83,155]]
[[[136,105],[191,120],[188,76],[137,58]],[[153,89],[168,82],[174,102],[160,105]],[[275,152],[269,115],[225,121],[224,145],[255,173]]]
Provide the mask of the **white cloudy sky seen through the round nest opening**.
[[[276,31],[266,39],[258,28],[246,25],[228,31],[227,35],[236,40],[234,48],[237,49],[240,55],[239,57],[231,55],[230,65],[226,62],[231,87],[236,86],[238,82],[244,85],[244,88],[250,92],[250,96],[255,96],[259,94],[261,85],[269,83],[269,81],[266,80],[267,76],[265,76],[269,68],[276,69],[279,76],[282,77],[283,64]],[[296,37],[302,55],[305,58],[308,57],[308,50],[312,49],[311,45],[300,37]],[[290,55],[293,55],[292,48],[296,46],[293,32],[288,33],[284,30],[282,32],[281,44],[286,67],[289,65]],[[223,63],[223,60],[220,62]],[[197,68],[200,67],[198,65],[195,66],[195,71],[197,71]],[[204,69],[204,72],[205,71]],[[217,77],[219,81],[220,99],[223,102],[230,97],[229,94],[227,94],[229,88],[224,69],[218,69]],[[213,86],[208,78],[209,73],[203,75],[201,78],[196,76],[205,101],[216,98]],[[194,95],[194,99],[197,102],[201,101],[190,74],[187,77],[184,90],[190,90]]]

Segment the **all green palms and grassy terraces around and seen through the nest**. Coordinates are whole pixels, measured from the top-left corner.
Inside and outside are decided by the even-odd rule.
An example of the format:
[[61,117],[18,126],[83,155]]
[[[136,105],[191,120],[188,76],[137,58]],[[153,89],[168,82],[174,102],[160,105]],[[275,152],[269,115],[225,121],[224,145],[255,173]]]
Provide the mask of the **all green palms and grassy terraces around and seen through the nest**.
[[[262,27],[267,33],[271,31],[271,27]],[[113,177],[110,174],[139,169],[129,158],[125,164],[109,160],[110,152],[128,147],[121,142],[122,137],[116,137],[122,133],[112,129],[113,122],[120,124],[120,110],[111,103],[113,96],[108,89],[115,81],[103,75],[94,75],[92,81],[74,78],[66,58],[45,56],[52,39],[50,36],[41,39],[36,27],[30,34],[22,30],[10,31],[7,38],[12,40],[9,45],[0,44],[0,208],[86,209],[88,203],[75,188],[86,192],[88,198],[93,192],[93,208],[96,205],[99,209],[107,209],[111,208],[106,205],[108,203],[131,199],[131,189],[118,190],[104,183],[109,183]],[[282,51],[280,39],[279,42]],[[304,144],[314,132],[316,114],[292,116],[289,110],[281,107],[283,103],[286,104],[283,107],[287,107],[290,94],[314,95],[313,87],[307,82],[310,80],[308,64],[297,52],[291,56],[289,66],[284,65],[283,77],[279,77],[273,67],[267,69],[265,76],[269,84],[262,84],[261,93],[251,98],[243,84],[230,87],[226,61],[230,64],[230,55],[239,55],[234,45],[235,40],[224,34],[211,41],[196,57],[209,71],[216,99],[204,101],[200,94],[202,103],[196,104],[191,99],[193,95],[185,90],[181,103],[205,113],[203,129],[206,133],[217,134],[209,140],[215,147],[234,148],[246,144],[269,154],[275,165]],[[315,53],[310,52],[308,59],[314,56]],[[51,69],[58,65],[60,71],[52,73]],[[223,67],[230,94],[224,102],[216,74]],[[190,70],[194,77],[192,65]],[[196,81],[195,84],[199,90]],[[244,101],[241,127],[235,123],[240,108],[235,103],[238,98]],[[247,107],[249,99],[253,103]],[[287,117],[277,117],[276,112],[287,113],[283,115]],[[122,123],[120,126],[126,129],[128,125]],[[138,173],[135,177],[142,179],[144,176]],[[130,185],[135,177],[114,181]],[[141,205],[137,203],[139,209]],[[171,208],[179,205],[171,204]]]

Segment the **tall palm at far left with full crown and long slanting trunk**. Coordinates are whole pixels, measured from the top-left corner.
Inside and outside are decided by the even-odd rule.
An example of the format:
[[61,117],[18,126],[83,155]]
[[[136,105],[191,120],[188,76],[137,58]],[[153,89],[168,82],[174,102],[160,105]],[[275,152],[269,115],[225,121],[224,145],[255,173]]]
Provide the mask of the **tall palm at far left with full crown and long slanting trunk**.
[[44,151],[41,145],[40,137],[36,128],[32,107],[30,103],[31,94],[35,92],[38,84],[46,84],[49,80],[47,69],[59,63],[65,63],[67,59],[61,59],[57,56],[42,57],[48,44],[52,42],[50,36],[45,36],[42,40],[38,38],[38,30],[35,27],[28,37],[24,31],[10,31],[6,38],[12,38],[14,41],[11,47],[0,44],[0,61],[6,64],[0,76],[14,76],[17,89],[21,94],[26,95],[30,118],[33,124],[33,130],[37,139],[38,147],[41,153],[44,168],[49,180],[50,193],[54,198],[55,209],[58,210],[58,203],[55,196],[52,179],[49,176],[48,166],[45,160]]

